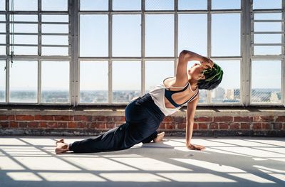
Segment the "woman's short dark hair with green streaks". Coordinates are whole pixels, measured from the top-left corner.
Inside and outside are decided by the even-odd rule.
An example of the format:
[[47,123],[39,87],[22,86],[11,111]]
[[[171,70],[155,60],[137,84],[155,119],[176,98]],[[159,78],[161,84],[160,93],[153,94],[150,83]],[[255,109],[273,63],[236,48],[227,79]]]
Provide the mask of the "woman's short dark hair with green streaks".
[[205,79],[199,80],[198,88],[204,90],[213,90],[222,81],[223,70],[219,65],[214,63],[214,67],[211,69],[204,70]]

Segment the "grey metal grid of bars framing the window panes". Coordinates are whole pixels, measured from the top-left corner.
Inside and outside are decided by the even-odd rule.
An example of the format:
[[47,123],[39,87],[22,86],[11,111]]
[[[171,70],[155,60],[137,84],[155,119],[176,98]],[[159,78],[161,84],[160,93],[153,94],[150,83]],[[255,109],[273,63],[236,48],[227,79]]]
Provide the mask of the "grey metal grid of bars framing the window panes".
[[[0,11],[0,14],[6,15],[6,21],[0,21],[0,23],[6,23],[6,44],[0,44],[0,46],[6,46],[6,55],[0,55],[0,60],[6,60],[6,102],[1,103],[1,105],[9,105],[9,72],[10,72],[10,46],[9,44],[9,24],[10,23],[36,23],[38,24],[38,33],[14,33],[15,35],[37,35],[38,44],[37,45],[14,45],[14,46],[38,46],[38,55],[16,55],[14,60],[38,60],[38,102],[35,103],[21,103],[23,105],[71,105],[73,107],[77,105],[122,105],[113,103],[113,78],[112,78],[112,62],[113,60],[138,60],[141,62],[141,94],[145,92],[145,61],[146,60],[172,60],[173,65],[176,68],[177,58],[178,58],[178,15],[179,14],[207,14],[207,56],[214,60],[239,60],[241,68],[241,80],[240,80],[240,103],[212,103],[211,102],[211,93],[207,91],[207,103],[199,105],[242,105],[249,106],[252,105],[250,102],[251,95],[251,62],[252,60],[269,60],[276,59],[281,60],[281,94],[283,95],[281,100],[281,105],[284,105],[285,101],[285,62],[284,62],[284,19],[285,19],[285,0],[282,0],[282,9],[262,9],[262,10],[253,10],[253,0],[241,0],[241,9],[222,9],[222,10],[213,10],[212,9],[212,0],[207,0],[207,10],[179,10],[178,3],[179,0],[174,0],[174,9],[170,11],[147,11],[145,10],[145,0],[141,0],[141,10],[140,11],[113,11],[113,1],[108,1],[108,11],[81,11],[80,10],[80,0],[68,0],[68,10],[67,11],[42,11],[41,10],[41,0],[38,0],[38,11],[14,11],[13,14],[33,14],[38,15],[38,22],[33,21],[10,21],[9,11],[9,0],[6,0],[6,11]],[[277,44],[282,48],[281,55],[254,55],[253,48],[254,46],[276,46],[276,43],[270,44],[254,44],[253,36],[254,34],[261,33],[276,33],[276,32],[254,32],[253,24],[254,22],[254,13],[255,12],[264,12],[264,13],[274,13],[279,12],[282,14],[281,20],[271,21],[271,22],[281,22],[282,31],[279,32],[282,34],[282,43]],[[212,14],[225,14],[225,13],[238,13],[241,14],[241,55],[239,56],[222,56],[215,57],[212,56]],[[42,22],[41,15],[43,14],[61,14],[68,15],[68,23],[62,22]],[[105,14],[108,15],[108,57],[80,57],[79,56],[79,28],[80,28],[80,16],[83,14]],[[113,15],[117,14],[140,14],[141,15],[141,56],[139,57],[114,57],[112,56],[112,24],[113,24]],[[172,14],[174,15],[174,54],[173,57],[146,57],[145,56],[145,15],[148,14]],[[259,22],[269,22],[261,20]],[[68,24],[69,33],[41,33],[42,24]],[[41,43],[41,36],[68,36],[69,45],[43,45]],[[41,55],[41,47],[68,47],[68,56],[43,56]],[[68,60],[70,61],[70,90],[69,90],[69,103],[42,103],[41,101],[41,61],[42,60]],[[80,62],[81,60],[107,60],[108,61],[108,103],[80,103]],[[174,68],[174,69],[175,69]],[[270,105],[270,104],[269,104]]]

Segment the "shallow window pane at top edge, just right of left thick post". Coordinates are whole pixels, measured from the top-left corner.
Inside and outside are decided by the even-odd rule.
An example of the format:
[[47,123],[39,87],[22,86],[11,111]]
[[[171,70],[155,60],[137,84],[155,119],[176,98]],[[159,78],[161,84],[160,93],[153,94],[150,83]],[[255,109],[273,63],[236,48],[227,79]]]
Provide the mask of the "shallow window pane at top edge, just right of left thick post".
[[81,0],[81,11],[108,11],[108,1]]

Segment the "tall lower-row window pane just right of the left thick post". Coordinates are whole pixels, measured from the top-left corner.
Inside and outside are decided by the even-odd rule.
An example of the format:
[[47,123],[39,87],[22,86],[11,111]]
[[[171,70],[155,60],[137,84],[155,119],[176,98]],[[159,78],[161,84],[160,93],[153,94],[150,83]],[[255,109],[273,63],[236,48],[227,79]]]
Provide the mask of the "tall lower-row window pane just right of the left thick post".
[[108,102],[108,61],[81,61],[80,102]]

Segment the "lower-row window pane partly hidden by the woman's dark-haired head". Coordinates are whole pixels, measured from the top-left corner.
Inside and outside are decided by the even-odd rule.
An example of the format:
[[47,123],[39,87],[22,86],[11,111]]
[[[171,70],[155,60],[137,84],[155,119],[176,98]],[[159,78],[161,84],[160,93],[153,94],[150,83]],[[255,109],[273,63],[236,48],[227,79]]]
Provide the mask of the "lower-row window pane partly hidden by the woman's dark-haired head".
[[[223,70],[222,82],[212,90],[212,102],[233,103],[240,100],[240,61],[239,60],[216,60]],[[234,78],[232,77],[234,75]]]

